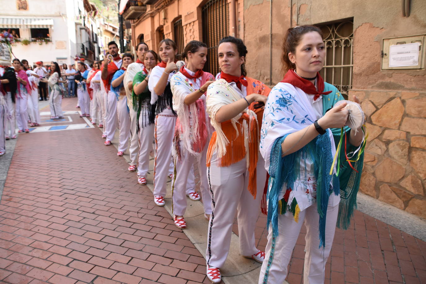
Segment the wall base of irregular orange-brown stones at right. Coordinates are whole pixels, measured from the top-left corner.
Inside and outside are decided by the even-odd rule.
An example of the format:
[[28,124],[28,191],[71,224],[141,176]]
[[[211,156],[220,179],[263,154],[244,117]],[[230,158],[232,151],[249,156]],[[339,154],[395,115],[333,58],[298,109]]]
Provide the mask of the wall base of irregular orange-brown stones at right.
[[426,218],[426,92],[351,90],[367,116],[360,191]]

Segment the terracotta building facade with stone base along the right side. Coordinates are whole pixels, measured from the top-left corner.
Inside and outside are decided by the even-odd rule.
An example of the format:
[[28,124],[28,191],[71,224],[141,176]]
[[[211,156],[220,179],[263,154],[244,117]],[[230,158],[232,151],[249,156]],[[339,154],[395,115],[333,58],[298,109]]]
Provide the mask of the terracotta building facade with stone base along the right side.
[[[319,26],[327,47],[322,76],[344,96],[357,95],[367,117],[360,191],[426,218],[425,1],[406,0],[405,8],[386,0],[121,1],[133,46],[144,41],[158,51],[160,40],[171,38],[180,53],[201,40],[209,51],[205,69],[216,74],[220,38],[240,37],[248,75],[271,86],[283,76],[285,31]],[[417,65],[389,67],[389,48],[411,43],[418,43]]]

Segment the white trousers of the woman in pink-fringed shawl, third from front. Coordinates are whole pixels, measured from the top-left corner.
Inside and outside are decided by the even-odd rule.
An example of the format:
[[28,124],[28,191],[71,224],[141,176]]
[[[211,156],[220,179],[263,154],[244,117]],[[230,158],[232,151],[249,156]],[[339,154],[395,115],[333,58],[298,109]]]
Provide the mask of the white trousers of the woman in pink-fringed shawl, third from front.
[[182,141],[179,141],[179,149],[181,152],[181,161],[174,158],[176,176],[172,180],[172,212],[176,216],[183,216],[187,208],[187,190],[188,190],[188,176],[193,168],[194,161],[198,161],[199,175],[200,175],[200,190],[203,198],[204,213],[211,214],[212,212],[212,198],[208,188],[207,182],[207,155],[208,141],[204,146],[203,152],[199,156],[194,156],[182,147]]

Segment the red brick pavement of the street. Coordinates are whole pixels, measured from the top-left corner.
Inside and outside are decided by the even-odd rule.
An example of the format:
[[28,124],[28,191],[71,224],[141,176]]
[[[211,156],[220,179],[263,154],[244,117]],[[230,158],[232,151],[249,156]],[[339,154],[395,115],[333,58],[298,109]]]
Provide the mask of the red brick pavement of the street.
[[[75,111],[75,102],[65,99],[63,108]],[[72,122],[42,126],[87,123],[68,116]],[[0,203],[0,281],[210,283],[199,251],[116,149],[89,124],[73,127],[81,126],[18,138]],[[259,249],[265,222],[260,215]],[[291,284],[302,282],[304,233],[291,259]],[[347,231],[336,231],[325,282],[426,283],[425,255],[425,242],[356,212]]]

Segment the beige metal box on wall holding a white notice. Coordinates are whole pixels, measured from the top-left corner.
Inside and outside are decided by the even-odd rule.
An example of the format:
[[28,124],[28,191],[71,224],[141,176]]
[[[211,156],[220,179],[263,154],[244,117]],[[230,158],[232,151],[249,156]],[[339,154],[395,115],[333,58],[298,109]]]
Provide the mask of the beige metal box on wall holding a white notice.
[[382,70],[425,69],[425,36],[384,38]]

